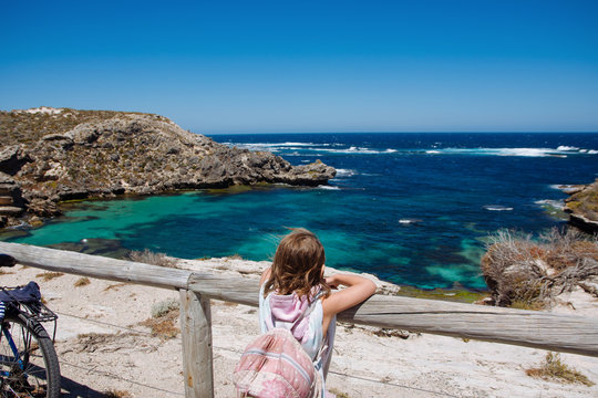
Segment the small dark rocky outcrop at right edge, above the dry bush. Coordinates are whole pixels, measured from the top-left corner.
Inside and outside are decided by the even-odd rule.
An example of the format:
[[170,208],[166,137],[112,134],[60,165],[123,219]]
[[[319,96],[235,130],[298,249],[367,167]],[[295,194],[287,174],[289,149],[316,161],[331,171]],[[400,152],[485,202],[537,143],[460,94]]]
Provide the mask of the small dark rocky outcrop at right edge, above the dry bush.
[[569,223],[586,232],[598,232],[598,179],[590,185],[570,192],[565,200],[565,211]]

